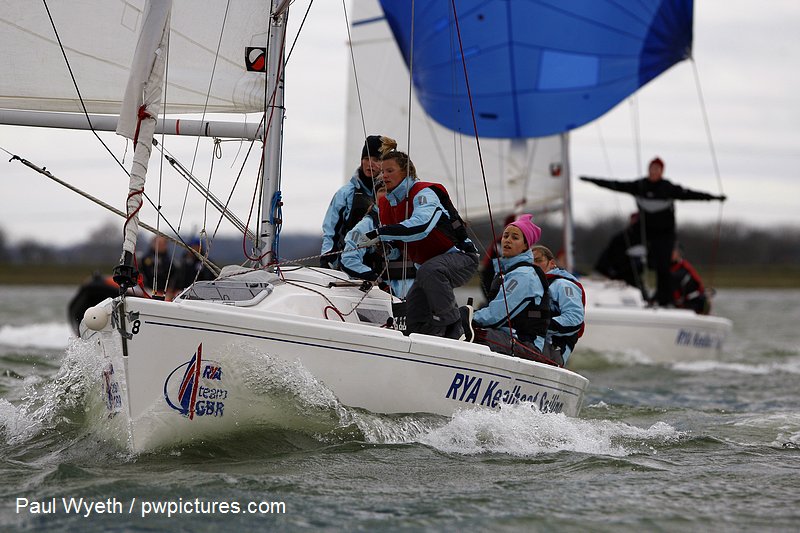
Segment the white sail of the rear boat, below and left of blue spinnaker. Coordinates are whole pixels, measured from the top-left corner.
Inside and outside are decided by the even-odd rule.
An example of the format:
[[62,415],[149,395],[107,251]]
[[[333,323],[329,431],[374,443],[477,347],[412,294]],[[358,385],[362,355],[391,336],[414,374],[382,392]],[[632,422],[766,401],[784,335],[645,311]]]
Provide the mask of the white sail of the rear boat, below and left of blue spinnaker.
[[[376,0],[355,0],[351,20],[356,76],[351,72],[349,79],[345,175],[352,174],[365,135],[393,137],[421,179],[444,184],[464,218],[485,222],[488,207],[475,138],[434,122],[414,95],[409,109],[408,68]],[[470,120],[469,110],[464,113]],[[495,219],[561,209],[565,176],[553,175],[564,167],[559,136],[482,138],[480,149]]]

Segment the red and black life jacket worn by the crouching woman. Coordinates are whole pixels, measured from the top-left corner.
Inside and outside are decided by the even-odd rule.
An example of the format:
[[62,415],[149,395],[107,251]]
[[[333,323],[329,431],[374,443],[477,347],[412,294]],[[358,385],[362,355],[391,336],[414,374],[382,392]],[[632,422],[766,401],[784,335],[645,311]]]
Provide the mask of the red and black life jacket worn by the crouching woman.
[[[414,213],[414,197],[417,195],[417,193],[419,193],[419,191],[428,187],[436,192],[436,195],[440,198],[440,200],[442,198],[442,194],[444,197],[449,199],[447,189],[445,189],[443,185],[439,183],[418,181],[408,191],[408,195],[399,201],[397,205],[391,205],[386,197],[383,197],[378,201],[378,212],[380,213],[381,224],[384,226],[399,224],[400,222],[410,218]],[[443,208],[445,211],[448,211],[446,205],[443,205]],[[406,209],[408,209],[408,211],[406,211]],[[448,217],[450,215],[451,213],[447,213]],[[436,257],[437,255],[441,255],[458,244],[452,237],[448,236],[444,231],[442,231],[440,226],[442,226],[442,219],[439,220],[439,223],[436,224],[436,227],[428,234],[427,237],[418,241],[406,243],[408,245],[408,257],[412,261],[421,265],[428,259]]]

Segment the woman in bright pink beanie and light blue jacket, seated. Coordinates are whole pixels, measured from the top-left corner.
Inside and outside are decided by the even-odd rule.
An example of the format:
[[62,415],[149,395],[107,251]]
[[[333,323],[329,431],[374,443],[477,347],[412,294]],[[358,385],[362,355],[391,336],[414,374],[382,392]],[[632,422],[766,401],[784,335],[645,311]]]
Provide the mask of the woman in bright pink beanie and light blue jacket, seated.
[[490,301],[475,311],[472,324],[477,326],[475,342],[495,352],[539,360],[550,323],[550,297],[544,272],[533,264],[530,248],[542,230],[532,218],[522,215],[503,230]]

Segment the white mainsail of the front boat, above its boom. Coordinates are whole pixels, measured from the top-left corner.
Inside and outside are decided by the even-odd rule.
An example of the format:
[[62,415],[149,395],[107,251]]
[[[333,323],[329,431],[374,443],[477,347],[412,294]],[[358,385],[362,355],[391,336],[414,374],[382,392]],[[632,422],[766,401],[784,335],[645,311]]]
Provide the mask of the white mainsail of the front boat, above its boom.
[[[86,110],[118,113],[145,1],[50,0],[47,7],[50,16],[41,2],[3,2],[0,47],[7,63],[0,77],[0,108],[82,113],[63,45]],[[245,70],[243,48],[264,46],[265,9],[256,0],[174,2],[165,113],[262,109],[263,74]],[[220,35],[223,21],[237,31]]]

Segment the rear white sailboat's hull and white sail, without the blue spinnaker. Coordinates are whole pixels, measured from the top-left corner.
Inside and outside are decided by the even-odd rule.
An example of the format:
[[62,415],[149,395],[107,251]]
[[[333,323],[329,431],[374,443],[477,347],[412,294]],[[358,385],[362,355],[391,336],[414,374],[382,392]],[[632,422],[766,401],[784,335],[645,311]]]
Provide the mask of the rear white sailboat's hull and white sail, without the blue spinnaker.
[[[679,3],[683,2],[674,2]],[[472,6],[460,7],[474,15]],[[362,114],[381,116],[378,133],[405,139],[410,129],[409,153],[419,174],[441,181],[448,190],[460,191],[459,209],[473,224],[485,223],[487,217],[479,171],[482,163],[496,222],[509,213],[527,212],[537,217],[563,213],[565,259],[572,268],[568,132],[481,139],[479,160],[472,135],[431,118],[416,92],[409,99],[408,69],[379,1],[356,0],[353,11],[353,54],[357,65],[369,65],[370,75],[358,79],[358,90],[355,77],[350,77],[346,153],[358,153],[363,142]],[[346,169],[344,175],[351,171]],[[628,354],[654,363],[717,358],[732,329],[731,321],[724,317],[649,306],[639,289],[622,282],[584,277],[581,283],[586,289],[586,329],[576,346],[576,357],[594,351]]]

